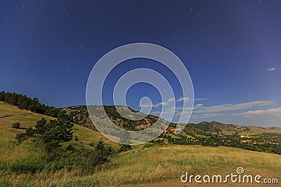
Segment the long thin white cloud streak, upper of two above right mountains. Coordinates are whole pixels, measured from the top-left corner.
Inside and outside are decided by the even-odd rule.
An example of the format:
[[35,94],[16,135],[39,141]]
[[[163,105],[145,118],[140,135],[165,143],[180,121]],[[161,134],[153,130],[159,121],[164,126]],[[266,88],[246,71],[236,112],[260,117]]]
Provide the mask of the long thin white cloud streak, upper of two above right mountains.
[[256,102],[245,102],[240,104],[222,104],[217,106],[202,106],[194,113],[215,113],[221,111],[237,111],[243,109],[250,109],[254,106],[268,106],[273,104],[273,101],[256,101]]

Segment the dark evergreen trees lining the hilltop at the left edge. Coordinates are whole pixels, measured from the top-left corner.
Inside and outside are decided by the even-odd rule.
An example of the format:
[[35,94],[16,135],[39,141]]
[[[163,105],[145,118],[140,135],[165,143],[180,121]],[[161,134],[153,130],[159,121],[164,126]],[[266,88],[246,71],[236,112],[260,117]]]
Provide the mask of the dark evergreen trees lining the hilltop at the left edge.
[[41,113],[46,116],[58,117],[58,109],[53,106],[45,106],[39,102],[38,98],[31,99],[26,95],[17,94],[15,92],[0,92],[0,102],[6,102],[13,106],[18,106],[19,109],[33,111],[34,113]]

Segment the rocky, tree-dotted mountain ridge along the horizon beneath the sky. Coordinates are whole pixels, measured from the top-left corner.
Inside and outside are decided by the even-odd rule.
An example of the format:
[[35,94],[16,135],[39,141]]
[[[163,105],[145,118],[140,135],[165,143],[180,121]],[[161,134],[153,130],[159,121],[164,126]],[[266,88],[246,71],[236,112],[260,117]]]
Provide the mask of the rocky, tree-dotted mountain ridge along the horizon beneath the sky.
[[[91,105],[94,107],[101,107],[98,105]],[[124,105],[118,105],[122,107],[128,108],[130,111],[136,112],[133,109],[130,109],[128,106]],[[107,113],[107,116],[112,120],[113,123],[115,123],[117,126],[122,127],[126,130],[142,130],[145,129],[146,127],[150,127],[153,125],[153,123],[156,122],[156,120],[159,118],[157,116],[153,115],[148,115],[145,117],[144,120],[141,121],[133,121],[129,122],[130,120],[127,120],[126,118],[122,117],[115,105],[113,106],[104,106],[105,111]],[[73,118],[74,123],[77,123],[79,125],[83,125],[86,127],[89,127],[93,130],[95,130],[95,127],[93,123],[91,122],[91,118],[89,117],[89,113],[87,110],[87,107],[85,105],[78,105],[78,106],[69,106],[65,108],[60,108],[63,111],[66,111],[67,114]],[[143,114],[147,115],[147,114]],[[104,116],[105,117],[105,116]],[[96,118],[96,120],[99,120]],[[162,119],[163,120],[163,119]],[[170,124],[170,127],[176,127],[177,123],[170,123],[166,120],[164,120],[166,123]],[[129,125],[124,125],[124,123],[129,123],[129,125],[133,125],[133,127],[130,127]],[[243,132],[244,134],[247,134],[246,132],[249,132],[251,130],[254,130],[252,134],[259,134],[261,132],[277,132],[281,134],[281,127],[258,127],[254,125],[235,125],[232,123],[225,124],[225,123],[220,123],[217,121],[202,121],[200,123],[188,123],[187,125],[191,125],[193,127],[197,127],[200,130],[203,130],[204,132],[210,132],[213,134],[224,134],[224,135],[230,135],[230,134],[235,134],[235,132]],[[249,134],[249,133],[248,133]]]

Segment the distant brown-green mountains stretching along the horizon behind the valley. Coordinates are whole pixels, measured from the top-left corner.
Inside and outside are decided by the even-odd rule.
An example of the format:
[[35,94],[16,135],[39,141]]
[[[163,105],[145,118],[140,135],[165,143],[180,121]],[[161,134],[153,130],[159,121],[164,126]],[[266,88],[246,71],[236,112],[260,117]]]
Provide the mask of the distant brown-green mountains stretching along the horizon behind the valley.
[[[129,120],[127,118],[122,117],[117,111],[116,107],[119,111],[126,114],[126,111],[133,111],[127,106],[104,106],[107,116],[110,120],[115,123],[118,127],[121,127],[126,130],[143,130],[145,128],[153,125],[158,117],[153,115],[148,115],[143,120]],[[95,112],[91,113],[91,118],[93,118],[94,123],[100,123],[103,121],[105,116],[103,116],[103,108],[102,106],[91,106],[91,109]],[[86,106],[70,106],[67,108],[61,109],[66,111],[67,114],[73,119],[73,122],[82,125],[84,127],[88,127],[92,130],[96,130],[91,119],[89,117],[89,113],[87,111]],[[133,111],[136,112],[136,111]],[[141,113],[141,115],[145,116],[145,114]],[[128,114],[129,116],[129,114]],[[162,120],[163,123],[170,124],[169,129],[176,128],[176,124],[169,123],[165,120]],[[191,127],[195,127],[192,128]],[[202,134],[202,132],[207,132],[210,134],[217,135],[253,135],[253,134],[261,134],[261,133],[278,133],[281,134],[280,127],[254,127],[254,126],[242,126],[242,125],[233,125],[233,124],[223,124],[216,121],[207,122],[203,121],[201,123],[190,123],[185,128],[188,128],[188,131],[196,132],[195,134]],[[186,130],[185,130],[186,131]],[[200,132],[202,131],[202,132]]]

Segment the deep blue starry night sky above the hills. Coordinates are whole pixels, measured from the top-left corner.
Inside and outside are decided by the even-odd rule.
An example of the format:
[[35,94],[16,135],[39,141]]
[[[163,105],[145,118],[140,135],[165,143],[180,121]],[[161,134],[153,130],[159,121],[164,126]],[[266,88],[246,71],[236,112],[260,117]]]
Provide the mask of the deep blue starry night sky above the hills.
[[[190,122],[281,127],[281,1],[0,4],[0,90],[55,107],[84,105],[87,79],[100,57],[124,44],[155,43],[178,55],[190,73]],[[135,59],[112,71],[108,86],[136,67],[175,78],[157,62]],[[139,84],[129,90],[127,104],[139,109],[146,95],[153,104],[166,102],[155,88]],[[104,99],[113,104],[110,88]]]

